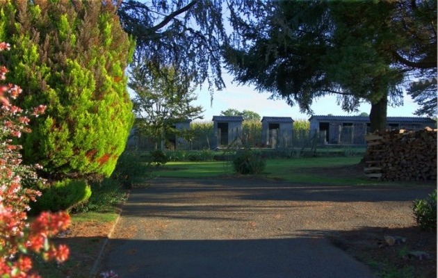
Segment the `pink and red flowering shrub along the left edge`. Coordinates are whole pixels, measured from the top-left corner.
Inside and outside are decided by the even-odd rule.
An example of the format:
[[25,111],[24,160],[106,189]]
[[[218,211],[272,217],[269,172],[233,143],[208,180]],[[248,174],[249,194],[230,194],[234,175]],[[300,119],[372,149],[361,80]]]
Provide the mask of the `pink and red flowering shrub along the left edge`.
[[[8,50],[9,44],[0,42],[0,51]],[[0,66],[0,277],[38,277],[32,271],[31,253],[41,254],[46,261],[65,261],[69,255],[65,245],[55,246],[49,238],[67,229],[70,216],[67,213],[41,213],[29,223],[29,202],[34,202],[40,192],[22,186],[23,181],[41,181],[35,167],[22,165],[19,150],[14,144],[24,132],[31,132],[27,124],[29,116],[38,117],[45,106],[33,111],[23,111],[14,106],[22,92],[17,85],[4,83],[6,67]]]

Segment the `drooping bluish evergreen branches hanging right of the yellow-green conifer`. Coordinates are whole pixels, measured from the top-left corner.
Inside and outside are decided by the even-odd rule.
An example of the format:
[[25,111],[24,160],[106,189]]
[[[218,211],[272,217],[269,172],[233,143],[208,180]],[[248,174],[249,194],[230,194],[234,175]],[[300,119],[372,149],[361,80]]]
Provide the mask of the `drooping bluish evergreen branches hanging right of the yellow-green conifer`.
[[241,0],[119,0],[117,13],[124,30],[136,39],[136,60],[171,66],[198,85],[207,81],[212,92],[225,86],[220,51],[227,40],[223,14],[236,1]]

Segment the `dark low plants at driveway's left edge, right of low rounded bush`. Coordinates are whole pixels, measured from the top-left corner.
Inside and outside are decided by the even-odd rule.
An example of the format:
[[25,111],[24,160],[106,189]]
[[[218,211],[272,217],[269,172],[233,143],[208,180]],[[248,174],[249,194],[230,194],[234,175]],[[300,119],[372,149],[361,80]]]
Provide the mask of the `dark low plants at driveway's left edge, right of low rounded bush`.
[[113,211],[113,208],[127,198],[127,191],[124,190],[119,181],[105,178],[100,182],[91,183],[92,195],[88,202],[84,202],[73,209],[74,213],[97,211]]

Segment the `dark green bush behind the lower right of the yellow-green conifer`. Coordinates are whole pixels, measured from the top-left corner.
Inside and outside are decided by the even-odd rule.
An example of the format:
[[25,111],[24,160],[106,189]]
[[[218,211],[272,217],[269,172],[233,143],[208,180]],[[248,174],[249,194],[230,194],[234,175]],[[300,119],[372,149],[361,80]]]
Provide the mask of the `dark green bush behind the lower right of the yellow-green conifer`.
[[131,188],[133,183],[139,183],[149,175],[147,159],[136,151],[126,149],[117,160],[115,170],[111,175],[124,188]]

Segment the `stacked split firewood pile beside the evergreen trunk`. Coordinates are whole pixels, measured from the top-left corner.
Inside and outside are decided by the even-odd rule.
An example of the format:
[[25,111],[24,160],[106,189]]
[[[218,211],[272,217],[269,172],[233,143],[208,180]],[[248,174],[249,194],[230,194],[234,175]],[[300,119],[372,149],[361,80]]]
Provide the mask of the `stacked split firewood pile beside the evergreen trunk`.
[[386,131],[365,136],[366,177],[384,181],[437,179],[437,129]]

